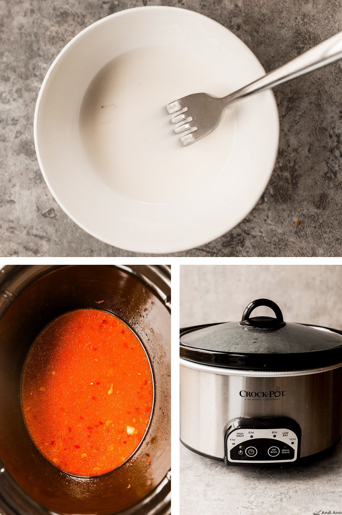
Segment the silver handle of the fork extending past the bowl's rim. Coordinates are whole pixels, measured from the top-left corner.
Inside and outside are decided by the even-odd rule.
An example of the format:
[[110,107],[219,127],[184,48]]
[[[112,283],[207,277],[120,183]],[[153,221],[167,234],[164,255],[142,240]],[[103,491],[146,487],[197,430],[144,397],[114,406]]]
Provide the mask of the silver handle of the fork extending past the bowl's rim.
[[316,68],[321,68],[341,58],[342,32],[338,32],[335,36],[319,43],[307,52],[304,52],[304,54],[295,57],[292,61],[279,66],[279,68],[276,68],[272,72],[268,72],[263,77],[260,77],[260,79],[247,84],[244,88],[223,97],[222,100],[224,100],[228,107],[232,102],[236,102],[254,93],[273,88],[282,82],[287,82],[295,77],[312,72],[316,70]]

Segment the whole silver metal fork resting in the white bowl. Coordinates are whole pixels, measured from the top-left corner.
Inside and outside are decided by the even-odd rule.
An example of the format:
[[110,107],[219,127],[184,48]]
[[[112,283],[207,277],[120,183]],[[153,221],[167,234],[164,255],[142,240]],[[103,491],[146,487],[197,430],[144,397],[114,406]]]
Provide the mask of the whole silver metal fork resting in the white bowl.
[[194,93],[179,98],[166,106],[169,113],[172,114],[171,121],[175,124],[174,131],[183,132],[181,136],[183,145],[191,145],[218,127],[225,110],[233,102],[271,89],[282,82],[287,82],[341,58],[342,32],[338,32],[332,38],[319,43],[304,54],[230,95],[220,98],[207,93]]

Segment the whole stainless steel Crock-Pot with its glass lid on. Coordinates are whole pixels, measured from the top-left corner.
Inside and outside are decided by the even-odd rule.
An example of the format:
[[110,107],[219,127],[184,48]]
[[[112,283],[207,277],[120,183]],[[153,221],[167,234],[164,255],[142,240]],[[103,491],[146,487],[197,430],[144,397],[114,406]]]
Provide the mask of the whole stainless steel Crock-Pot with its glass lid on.
[[[275,317],[250,317],[257,306]],[[342,331],[283,321],[267,299],[241,322],[181,330],[181,441],[226,465],[294,464],[342,433]]]

